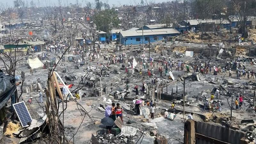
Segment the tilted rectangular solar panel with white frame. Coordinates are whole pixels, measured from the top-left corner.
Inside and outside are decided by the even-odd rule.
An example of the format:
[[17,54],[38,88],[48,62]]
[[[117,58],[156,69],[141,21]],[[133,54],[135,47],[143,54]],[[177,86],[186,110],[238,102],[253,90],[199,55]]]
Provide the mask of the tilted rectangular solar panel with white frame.
[[32,122],[32,118],[24,101],[13,104],[13,107],[19,117],[22,127],[27,126],[29,122]]

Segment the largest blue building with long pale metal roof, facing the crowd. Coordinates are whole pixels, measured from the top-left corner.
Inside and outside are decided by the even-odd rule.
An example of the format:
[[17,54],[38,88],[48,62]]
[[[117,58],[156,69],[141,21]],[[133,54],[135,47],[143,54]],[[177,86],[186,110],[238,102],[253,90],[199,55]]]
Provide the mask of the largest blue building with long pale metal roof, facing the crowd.
[[125,45],[138,45],[143,43],[147,44],[148,41],[156,42],[158,40],[167,38],[169,36],[177,36],[180,32],[174,28],[165,28],[165,29],[149,29],[143,30],[144,38],[142,38],[142,30],[136,31],[122,31],[121,30],[121,44]]

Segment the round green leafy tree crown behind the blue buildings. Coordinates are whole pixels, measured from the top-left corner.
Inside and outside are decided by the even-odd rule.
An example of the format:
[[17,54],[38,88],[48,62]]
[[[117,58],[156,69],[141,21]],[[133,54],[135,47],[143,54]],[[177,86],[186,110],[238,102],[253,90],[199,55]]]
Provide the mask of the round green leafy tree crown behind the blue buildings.
[[109,33],[111,30],[111,23],[113,27],[118,27],[120,23],[117,12],[114,9],[107,9],[96,13],[93,17],[93,22],[96,24],[97,29]]

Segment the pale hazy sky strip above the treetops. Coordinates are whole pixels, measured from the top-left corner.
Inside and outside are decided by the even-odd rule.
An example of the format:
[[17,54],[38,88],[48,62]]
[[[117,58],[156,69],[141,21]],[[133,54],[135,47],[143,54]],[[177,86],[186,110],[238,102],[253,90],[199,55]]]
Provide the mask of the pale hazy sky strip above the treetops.
[[[30,3],[30,1],[31,0],[25,0],[25,1],[28,1],[28,4]],[[48,1],[48,0],[33,0],[34,1],[34,3],[36,3],[36,4],[38,4],[38,1],[41,3],[41,4],[44,4],[45,3],[45,1]],[[53,2],[53,3],[56,3],[57,2],[57,0],[49,0],[49,1],[51,1],[51,2]],[[65,3],[72,3],[72,4],[75,4],[76,3],[76,0],[62,0],[63,2],[65,2]],[[87,1],[88,2],[92,2],[92,3],[94,3],[95,2],[95,0],[78,0],[80,3],[86,3]],[[128,4],[128,5],[134,5],[135,3],[139,3],[140,4],[140,2],[141,2],[141,0],[101,0],[102,2],[104,2],[104,1],[108,1],[108,4],[110,5],[110,6],[112,6],[112,4],[115,4],[116,6],[118,6],[118,5],[123,5],[123,4]],[[166,0],[148,0],[148,2],[155,2],[155,3],[159,3],[159,2],[166,2]],[[170,0],[167,0],[167,1],[170,1]],[[13,0],[0,0],[0,2],[2,2],[2,3],[8,3],[8,5],[10,5],[10,6],[13,6]],[[146,4],[145,3],[145,1],[144,1],[144,4]]]

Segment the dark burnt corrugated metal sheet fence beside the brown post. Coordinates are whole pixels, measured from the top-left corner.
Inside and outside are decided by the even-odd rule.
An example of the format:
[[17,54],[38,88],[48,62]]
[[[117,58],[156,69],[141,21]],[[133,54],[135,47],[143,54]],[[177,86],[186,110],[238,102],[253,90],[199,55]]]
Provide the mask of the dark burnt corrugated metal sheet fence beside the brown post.
[[[221,140],[224,142],[239,144],[240,139],[245,136],[244,132],[234,131],[232,129],[227,129],[224,126],[217,124],[208,124],[203,122],[195,121],[196,133],[203,134],[205,136]],[[197,139],[197,144],[208,144],[209,142]]]

